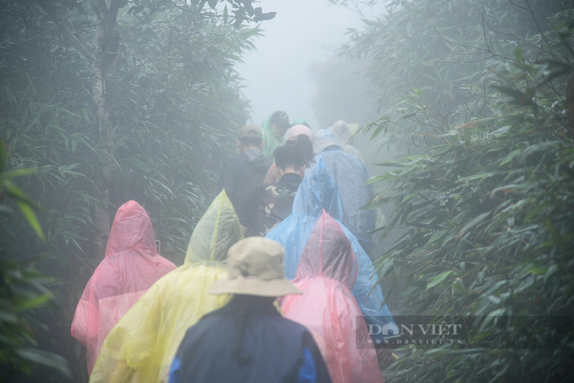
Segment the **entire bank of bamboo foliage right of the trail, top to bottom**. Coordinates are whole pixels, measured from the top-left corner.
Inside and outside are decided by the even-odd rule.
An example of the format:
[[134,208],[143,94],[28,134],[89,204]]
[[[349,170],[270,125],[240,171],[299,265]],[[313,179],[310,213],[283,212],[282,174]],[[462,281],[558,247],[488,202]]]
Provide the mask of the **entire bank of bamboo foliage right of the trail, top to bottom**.
[[401,314],[468,331],[405,346],[388,381],[572,380],[572,328],[553,326],[574,315],[573,32],[559,1],[398,1],[352,36],[386,110],[363,130],[416,153],[373,179],[382,235],[403,230],[379,275]]

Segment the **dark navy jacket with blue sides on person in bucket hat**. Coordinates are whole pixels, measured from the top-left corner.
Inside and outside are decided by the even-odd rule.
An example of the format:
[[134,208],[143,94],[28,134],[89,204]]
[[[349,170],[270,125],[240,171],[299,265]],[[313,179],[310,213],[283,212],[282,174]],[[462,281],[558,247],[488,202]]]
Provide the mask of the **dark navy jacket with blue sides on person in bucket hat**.
[[169,383],[331,382],[311,333],[283,318],[272,300],[247,301],[241,354],[249,362],[239,364],[234,345],[240,303],[235,298],[189,328],[173,359]]

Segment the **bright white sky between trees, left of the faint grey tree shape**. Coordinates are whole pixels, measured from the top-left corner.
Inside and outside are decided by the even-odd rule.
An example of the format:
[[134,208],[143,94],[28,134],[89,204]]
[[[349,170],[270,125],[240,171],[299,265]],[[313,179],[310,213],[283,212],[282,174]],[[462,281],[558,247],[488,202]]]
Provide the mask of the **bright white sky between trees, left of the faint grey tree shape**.
[[260,5],[277,16],[262,22],[265,36],[255,39],[257,51],[247,52],[236,68],[251,100],[251,122],[261,125],[267,115],[285,110],[291,121],[305,118],[313,130],[326,127],[318,126],[313,114],[316,86],[309,68],[331,59],[347,40],[347,28],[360,29],[360,17],[327,0],[264,0]]

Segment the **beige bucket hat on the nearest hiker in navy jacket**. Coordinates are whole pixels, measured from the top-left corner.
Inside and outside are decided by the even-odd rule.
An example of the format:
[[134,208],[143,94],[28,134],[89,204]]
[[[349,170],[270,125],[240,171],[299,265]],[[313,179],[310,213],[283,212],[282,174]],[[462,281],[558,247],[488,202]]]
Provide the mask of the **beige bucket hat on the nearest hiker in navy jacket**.
[[282,296],[301,294],[285,278],[285,250],[279,243],[262,237],[247,237],[227,250],[228,278],[216,281],[212,294]]

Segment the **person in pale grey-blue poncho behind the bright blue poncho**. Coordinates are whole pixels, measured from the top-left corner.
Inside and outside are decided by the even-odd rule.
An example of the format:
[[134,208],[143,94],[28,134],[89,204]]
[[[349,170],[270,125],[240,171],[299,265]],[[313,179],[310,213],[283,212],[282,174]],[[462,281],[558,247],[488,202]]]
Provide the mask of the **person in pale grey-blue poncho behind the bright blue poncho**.
[[339,188],[343,208],[343,225],[355,234],[363,249],[369,253],[373,247],[373,234],[377,214],[362,207],[373,199],[373,188],[364,183],[369,180],[369,171],[351,154],[343,152],[335,134],[321,129],[313,137],[315,160],[323,160],[329,175]]

